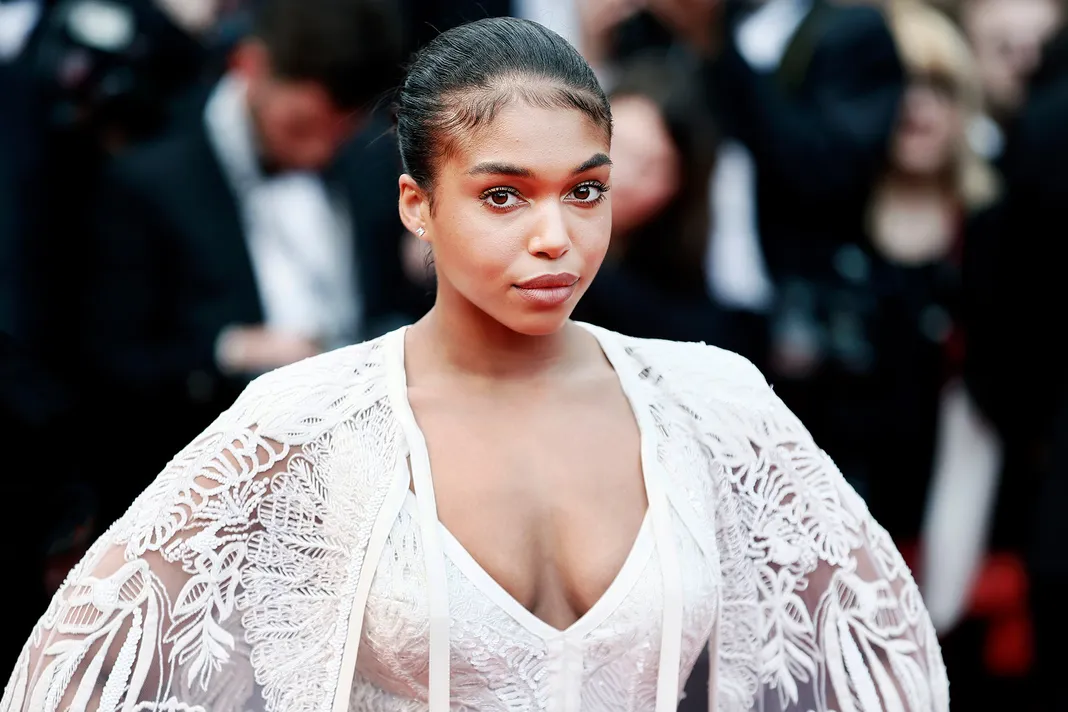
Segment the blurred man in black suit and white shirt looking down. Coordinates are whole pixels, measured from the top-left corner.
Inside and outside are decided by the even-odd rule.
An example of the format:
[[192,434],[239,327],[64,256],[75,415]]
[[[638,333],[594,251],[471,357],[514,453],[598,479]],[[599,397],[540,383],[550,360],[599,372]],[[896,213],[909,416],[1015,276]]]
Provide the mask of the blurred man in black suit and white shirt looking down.
[[90,362],[144,450],[137,476],[109,476],[104,519],[251,377],[415,311],[396,147],[373,113],[397,79],[396,17],[265,0],[252,27],[197,121],[115,161],[96,206]]

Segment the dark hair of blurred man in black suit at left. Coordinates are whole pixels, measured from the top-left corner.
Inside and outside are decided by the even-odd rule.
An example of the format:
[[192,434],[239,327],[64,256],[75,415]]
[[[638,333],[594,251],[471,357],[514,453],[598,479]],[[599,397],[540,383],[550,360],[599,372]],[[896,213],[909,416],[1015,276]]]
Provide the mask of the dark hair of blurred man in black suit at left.
[[394,0],[261,0],[252,32],[281,79],[321,84],[340,109],[396,85],[404,36]]

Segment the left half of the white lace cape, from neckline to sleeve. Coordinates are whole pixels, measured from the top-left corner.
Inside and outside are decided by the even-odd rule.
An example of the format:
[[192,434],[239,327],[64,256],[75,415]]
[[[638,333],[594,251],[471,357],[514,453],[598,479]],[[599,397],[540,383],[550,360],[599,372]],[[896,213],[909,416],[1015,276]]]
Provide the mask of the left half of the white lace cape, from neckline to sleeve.
[[0,710],[327,709],[396,457],[379,350],[253,382],[72,570]]

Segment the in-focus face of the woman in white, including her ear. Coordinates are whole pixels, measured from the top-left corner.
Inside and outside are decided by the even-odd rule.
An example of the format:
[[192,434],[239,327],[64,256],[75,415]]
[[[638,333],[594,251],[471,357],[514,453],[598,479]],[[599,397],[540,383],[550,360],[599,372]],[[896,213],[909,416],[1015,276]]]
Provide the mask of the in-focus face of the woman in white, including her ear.
[[433,210],[400,178],[406,226],[433,246],[438,308],[528,335],[560,329],[608,250],[609,139],[585,114],[517,101],[437,167]]

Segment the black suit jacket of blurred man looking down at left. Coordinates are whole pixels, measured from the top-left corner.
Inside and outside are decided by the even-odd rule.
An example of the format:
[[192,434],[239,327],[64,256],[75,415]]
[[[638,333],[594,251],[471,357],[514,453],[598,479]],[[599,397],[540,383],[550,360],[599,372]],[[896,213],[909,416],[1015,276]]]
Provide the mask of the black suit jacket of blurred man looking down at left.
[[[355,227],[363,336],[418,316],[399,260],[398,157],[377,120],[331,170]],[[220,331],[264,319],[238,204],[206,131],[115,161],[98,202],[87,344],[103,382],[169,404],[225,407],[244,383],[215,364]]]

